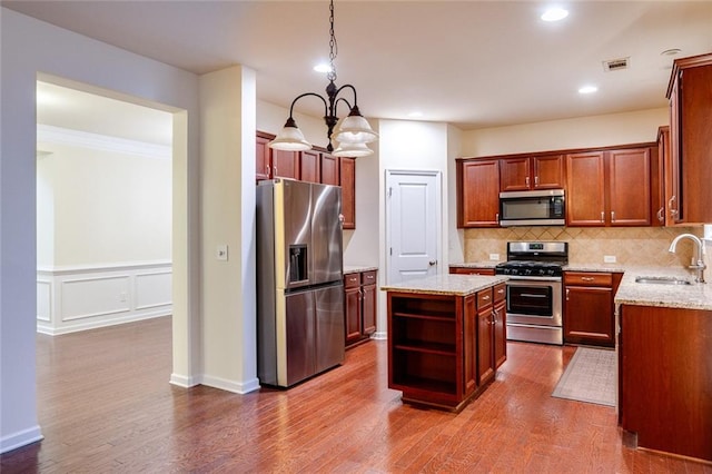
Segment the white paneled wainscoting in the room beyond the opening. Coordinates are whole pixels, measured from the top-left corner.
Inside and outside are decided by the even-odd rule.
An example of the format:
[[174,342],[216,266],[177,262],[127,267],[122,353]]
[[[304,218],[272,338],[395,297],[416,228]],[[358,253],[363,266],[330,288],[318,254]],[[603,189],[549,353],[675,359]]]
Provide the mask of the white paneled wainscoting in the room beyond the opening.
[[170,263],[42,268],[37,330],[75,333],[172,313]]

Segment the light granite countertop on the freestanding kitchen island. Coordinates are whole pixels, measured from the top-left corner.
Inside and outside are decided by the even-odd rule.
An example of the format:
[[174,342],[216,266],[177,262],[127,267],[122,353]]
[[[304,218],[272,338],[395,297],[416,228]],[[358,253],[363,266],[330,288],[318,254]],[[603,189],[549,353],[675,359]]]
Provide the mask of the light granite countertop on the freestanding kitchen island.
[[507,280],[505,276],[442,274],[382,286],[384,292],[418,293],[425,295],[468,296]]

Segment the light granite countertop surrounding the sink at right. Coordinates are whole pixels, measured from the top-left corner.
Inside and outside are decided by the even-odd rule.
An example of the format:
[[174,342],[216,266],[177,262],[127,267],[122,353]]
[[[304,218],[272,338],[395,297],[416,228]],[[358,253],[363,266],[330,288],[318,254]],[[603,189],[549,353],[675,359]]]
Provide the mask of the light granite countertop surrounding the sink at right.
[[[692,285],[643,284],[637,276],[673,276]],[[682,267],[626,267],[615,304],[712,310],[712,284],[695,284],[694,273]]]

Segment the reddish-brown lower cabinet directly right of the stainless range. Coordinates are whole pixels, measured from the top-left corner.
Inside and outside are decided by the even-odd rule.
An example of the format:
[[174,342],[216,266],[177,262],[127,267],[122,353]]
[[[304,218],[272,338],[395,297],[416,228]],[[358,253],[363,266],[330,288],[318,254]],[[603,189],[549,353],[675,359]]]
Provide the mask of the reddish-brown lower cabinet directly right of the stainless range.
[[613,347],[613,297],[622,274],[564,273],[564,343]]

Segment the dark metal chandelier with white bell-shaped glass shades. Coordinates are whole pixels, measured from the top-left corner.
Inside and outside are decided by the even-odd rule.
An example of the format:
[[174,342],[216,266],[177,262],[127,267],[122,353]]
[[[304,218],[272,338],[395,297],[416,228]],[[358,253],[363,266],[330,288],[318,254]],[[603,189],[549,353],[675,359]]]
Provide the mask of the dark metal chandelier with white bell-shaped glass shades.
[[[376,134],[368,124],[368,120],[360,115],[358,110],[358,103],[356,100],[356,88],[350,83],[344,85],[342,87],[337,87],[334,81],[336,80],[336,68],[334,67],[334,60],[336,59],[336,55],[338,52],[338,46],[336,45],[336,36],[334,34],[334,0],[329,1],[329,71],[326,75],[326,78],[329,80],[328,86],[326,87],[326,96],[325,99],[318,93],[315,92],[305,92],[300,96],[297,96],[296,99],[291,101],[291,106],[289,107],[289,118],[285,124],[284,128],[275,137],[274,140],[269,142],[270,148],[275,148],[277,150],[287,150],[287,151],[305,151],[312,149],[312,144],[309,144],[305,138],[299,127],[297,127],[297,122],[294,120],[294,105],[297,103],[297,100],[303,97],[314,96],[322,99],[324,102],[324,121],[326,122],[327,134],[326,136],[329,139],[329,142],[326,149],[336,157],[365,157],[372,155],[374,151],[368,148],[366,144],[370,144],[378,139],[378,134]],[[339,93],[344,90],[350,90],[354,92],[354,105],[352,106],[348,100],[343,97],[338,97]],[[336,115],[338,102],[343,101],[348,108],[348,116],[339,119]],[[338,147],[334,149],[333,142],[337,141]]]

